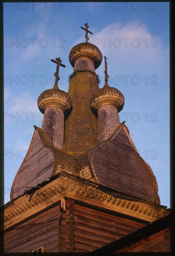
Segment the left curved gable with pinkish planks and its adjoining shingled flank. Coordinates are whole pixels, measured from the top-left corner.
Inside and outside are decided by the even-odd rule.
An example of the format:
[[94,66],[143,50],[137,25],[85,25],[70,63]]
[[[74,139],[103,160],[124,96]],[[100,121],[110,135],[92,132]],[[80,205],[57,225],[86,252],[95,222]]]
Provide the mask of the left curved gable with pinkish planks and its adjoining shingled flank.
[[48,181],[60,170],[76,175],[75,159],[54,148],[45,132],[35,127],[31,144],[12,185],[11,200],[22,195],[29,188]]

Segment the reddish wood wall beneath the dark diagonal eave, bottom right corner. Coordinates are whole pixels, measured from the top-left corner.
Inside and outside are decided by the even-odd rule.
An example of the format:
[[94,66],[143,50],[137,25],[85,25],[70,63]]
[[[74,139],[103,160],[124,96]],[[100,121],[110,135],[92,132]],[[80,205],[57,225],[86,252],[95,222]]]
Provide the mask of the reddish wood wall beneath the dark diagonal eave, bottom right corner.
[[133,243],[117,252],[168,252],[170,251],[170,228]]

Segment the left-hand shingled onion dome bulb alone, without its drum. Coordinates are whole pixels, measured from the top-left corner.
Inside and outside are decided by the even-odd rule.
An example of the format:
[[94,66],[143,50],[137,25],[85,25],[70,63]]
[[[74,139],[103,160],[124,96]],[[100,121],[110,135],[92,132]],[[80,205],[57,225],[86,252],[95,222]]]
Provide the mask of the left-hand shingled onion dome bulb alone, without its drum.
[[66,114],[71,111],[72,104],[69,95],[54,85],[52,89],[45,90],[38,98],[38,107],[41,113],[44,114],[45,108],[48,106],[56,106],[61,108]]

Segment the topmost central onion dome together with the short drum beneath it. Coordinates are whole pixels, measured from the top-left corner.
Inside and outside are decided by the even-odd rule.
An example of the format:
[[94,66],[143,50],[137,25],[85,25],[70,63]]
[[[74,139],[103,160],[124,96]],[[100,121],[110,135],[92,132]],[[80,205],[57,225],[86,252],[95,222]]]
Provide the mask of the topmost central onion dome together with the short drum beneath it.
[[69,61],[74,71],[95,71],[100,66],[103,56],[97,46],[85,42],[74,46],[69,54]]

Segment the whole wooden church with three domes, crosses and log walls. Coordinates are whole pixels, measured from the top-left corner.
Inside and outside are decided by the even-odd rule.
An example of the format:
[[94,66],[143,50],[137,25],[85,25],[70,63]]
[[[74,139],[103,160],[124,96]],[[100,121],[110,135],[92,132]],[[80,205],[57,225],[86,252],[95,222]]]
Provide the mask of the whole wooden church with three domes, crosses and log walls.
[[[68,93],[38,98],[44,114],[4,206],[5,252],[170,251],[170,209],[118,113],[124,96],[108,84],[107,58],[88,42],[71,49]],[[99,88],[96,69],[105,64]],[[61,71],[61,70],[60,70]],[[1,232],[2,233],[2,232]]]

